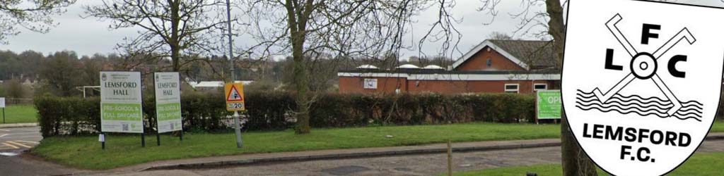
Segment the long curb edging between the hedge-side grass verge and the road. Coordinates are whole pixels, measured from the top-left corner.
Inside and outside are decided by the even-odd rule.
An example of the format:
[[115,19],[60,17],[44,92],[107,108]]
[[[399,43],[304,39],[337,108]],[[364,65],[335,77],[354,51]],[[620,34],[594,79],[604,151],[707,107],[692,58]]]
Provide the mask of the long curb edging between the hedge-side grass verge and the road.
[[[713,140],[724,140],[724,134],[710,135],[704,138],[705,141]],[[496,150],[508,150],[508,149],[529,149],[549,146],[560,146],[560,141],[555,142],[540,142],[534,144],[505,144],[495,146],[463,146],[463,147],[452,147],[452,151],[455,152],[471,152],[471,151],[496,151]],[[434,149],[401,149],[401,150],[390,150],[390,151],[361,151],[354,153],[345,154],[316,154],[316,155],[305,155],[305,156],[292,156],[292,157],[268,157],[259,159],[236,159],[227,161],[217,162],[195,162],[195,163],[183,163],[183,164],[165,164],[146,167],[141,171],[149,170],[178,170],[178,169],[201,169],[201,168],[214,168],[214,167],[230,167],[230,166],[243,166],[251,164],[264,164],[264,163],[277,163],[277,162],[306,162],[314,160],[325,160],[325,159],[354,159],[354,158],[366,158],[366,157],[390,157],[390,156],[403,156],[403,155],[414,155],[414,154],[440,154],[447,152],[446,148],[434,148]]]

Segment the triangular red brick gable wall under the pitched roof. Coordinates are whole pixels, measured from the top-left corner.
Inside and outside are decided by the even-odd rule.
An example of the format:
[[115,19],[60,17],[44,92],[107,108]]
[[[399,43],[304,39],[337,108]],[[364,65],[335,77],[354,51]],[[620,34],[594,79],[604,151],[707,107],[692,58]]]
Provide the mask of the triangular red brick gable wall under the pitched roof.
[[[485,47],[478,53],[475,53],[468,61],[463,62],[455,68],[458,71],[479,71],[479,70],[525,70],[523,67],[518,66],[518,63],[510,61],[496,50],[491,49],[488,52],[489,47]],[[488,58],[491,60],[491,66],[488,66]]]

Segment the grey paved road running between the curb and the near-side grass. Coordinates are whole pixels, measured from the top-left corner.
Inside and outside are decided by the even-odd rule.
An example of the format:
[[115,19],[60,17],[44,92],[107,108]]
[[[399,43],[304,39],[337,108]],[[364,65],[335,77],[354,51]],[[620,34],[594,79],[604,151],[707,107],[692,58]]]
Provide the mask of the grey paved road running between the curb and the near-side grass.
[[[704,141],[697,152],[724,152],[724,141]],[[177,175],[438,175],[446,154],[260,164],[207,170],[174,170]],[[560,147],[453,154],[455,171],[560,163]],[[158,172],[156,172],[158,173]]]

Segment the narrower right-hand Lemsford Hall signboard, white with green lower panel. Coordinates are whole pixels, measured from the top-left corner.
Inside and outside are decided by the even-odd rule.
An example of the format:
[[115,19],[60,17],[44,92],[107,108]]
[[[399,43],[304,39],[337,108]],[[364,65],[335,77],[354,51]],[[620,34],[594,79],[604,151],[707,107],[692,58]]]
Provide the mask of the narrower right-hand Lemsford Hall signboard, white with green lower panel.
[[155,73],[153,80],[156,87],[156,124],[159,133],[182,130],[179,73]]

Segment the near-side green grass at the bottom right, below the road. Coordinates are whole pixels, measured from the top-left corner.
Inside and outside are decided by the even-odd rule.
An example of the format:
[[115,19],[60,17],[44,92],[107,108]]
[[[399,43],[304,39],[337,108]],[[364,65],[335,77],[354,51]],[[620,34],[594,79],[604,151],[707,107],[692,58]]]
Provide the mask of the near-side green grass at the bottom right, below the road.
[[[678,167],[668,175],[722,175],[724,168],[724,153],[694,154],[681,167]],[[538,175],[563,175],[560,164],[542,164],[524,167],[501,167],[489,170],[475,170],[469,172],[456,172],[456,176],[478,176],[478,175],[500,175],[520,176],[526,172],[534,172]],[[598,175],[608,175],[603,170],[598,170]]]

